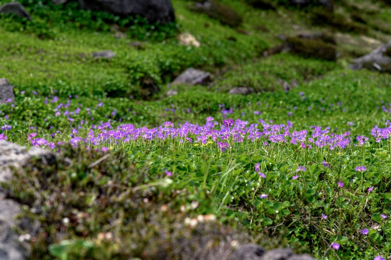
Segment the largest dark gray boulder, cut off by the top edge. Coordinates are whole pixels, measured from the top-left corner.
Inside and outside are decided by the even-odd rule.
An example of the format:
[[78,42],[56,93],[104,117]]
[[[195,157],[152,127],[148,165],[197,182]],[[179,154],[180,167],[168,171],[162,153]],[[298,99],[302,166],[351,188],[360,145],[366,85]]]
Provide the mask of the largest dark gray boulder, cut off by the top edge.
[[[53,0],[56,4],[67,0]],[[83,9],[103,11],[121,17],[136,16],[149,22],[174,22],[175,14],[171,0],[79,0]]]

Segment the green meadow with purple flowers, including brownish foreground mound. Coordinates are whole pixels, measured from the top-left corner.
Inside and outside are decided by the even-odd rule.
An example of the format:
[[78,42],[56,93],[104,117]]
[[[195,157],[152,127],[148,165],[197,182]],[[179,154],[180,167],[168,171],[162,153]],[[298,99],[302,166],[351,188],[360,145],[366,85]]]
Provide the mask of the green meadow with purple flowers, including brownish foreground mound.
[[[391,257],[391,76],[348,66],[390,40],[390,5],[336,0],[342,16],[362,10],[358,33],[244,0],[221,0],[239,28],[186,0],[172,0],[166,25],[21,2],[31,21],[0,17],[0,78],[16,96],[0,105],[0,140],[62,158],[4,184],[31,223],[18,232],[32,259],[206,259],[246,242]],[[336,30],[338,61],[263,57],[276,35],[302,30]],[[180,45],[181,32],[201,46]],[[101,50],[116,56],[91,56]],[[188,67],[213,82],[171,85]],[[228,94],[235,86],[255,93]]]

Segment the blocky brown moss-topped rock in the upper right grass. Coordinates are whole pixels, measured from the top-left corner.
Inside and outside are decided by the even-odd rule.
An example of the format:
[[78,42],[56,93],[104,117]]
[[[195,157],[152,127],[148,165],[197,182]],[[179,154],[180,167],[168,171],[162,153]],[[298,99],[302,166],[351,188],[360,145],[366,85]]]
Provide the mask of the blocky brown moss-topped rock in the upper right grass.
[[289,46],[290,52],[303,56],[304,58],[337,60],[336,46],[322,40],[288,37],[286,43]]

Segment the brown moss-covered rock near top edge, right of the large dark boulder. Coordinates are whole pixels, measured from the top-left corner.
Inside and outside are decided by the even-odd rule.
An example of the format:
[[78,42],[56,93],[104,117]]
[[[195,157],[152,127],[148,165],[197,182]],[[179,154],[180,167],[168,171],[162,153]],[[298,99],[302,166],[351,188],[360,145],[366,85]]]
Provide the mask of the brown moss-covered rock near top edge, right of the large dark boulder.
[[190,5],[190,9],[195,12],[205,13],[209,17],[231,27],[239,26],[243,20],[234,9],[217,0],[205,1],[203,3],[195,2]]

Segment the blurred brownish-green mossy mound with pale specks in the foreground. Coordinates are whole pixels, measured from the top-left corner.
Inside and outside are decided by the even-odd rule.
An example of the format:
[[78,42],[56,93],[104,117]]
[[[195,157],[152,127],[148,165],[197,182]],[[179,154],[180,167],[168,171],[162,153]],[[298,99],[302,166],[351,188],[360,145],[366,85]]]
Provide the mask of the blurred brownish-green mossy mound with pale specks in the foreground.
[[64,251],[66,259],[226,259],[232,240],[250,241],[215,215],[183,210],[207,195],[172,189],[164,173],[149,176],[123,151],[67,145],[59,152],[73,159],[51,167],[33,159],[10,182],[24,217],[36,223],[31,259]]

